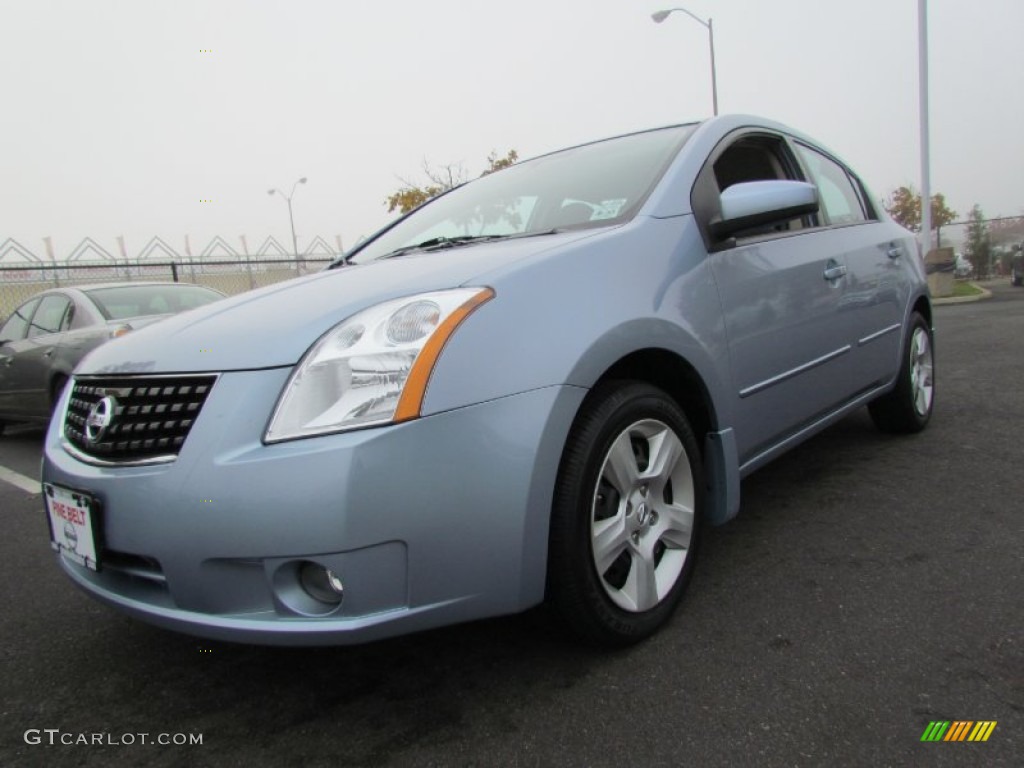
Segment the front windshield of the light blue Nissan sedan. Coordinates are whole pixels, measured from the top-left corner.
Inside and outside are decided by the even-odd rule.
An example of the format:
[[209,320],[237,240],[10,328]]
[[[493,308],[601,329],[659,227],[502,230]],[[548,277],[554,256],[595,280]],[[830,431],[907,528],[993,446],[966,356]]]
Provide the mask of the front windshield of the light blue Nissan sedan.
[[636,213],[694,127],[584,144],[483,176],[417,209],[348,260],[365,263],[418,245],[621,223]]

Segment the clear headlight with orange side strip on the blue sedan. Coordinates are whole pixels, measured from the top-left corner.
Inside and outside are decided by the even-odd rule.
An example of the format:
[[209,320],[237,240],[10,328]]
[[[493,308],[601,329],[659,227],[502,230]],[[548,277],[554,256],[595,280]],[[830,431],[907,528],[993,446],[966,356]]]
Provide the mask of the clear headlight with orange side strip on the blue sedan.
[[295,367],[263,439],[415,419],[444,343],[494,295],[489,288],[420,294],[378,304],[335,326]]

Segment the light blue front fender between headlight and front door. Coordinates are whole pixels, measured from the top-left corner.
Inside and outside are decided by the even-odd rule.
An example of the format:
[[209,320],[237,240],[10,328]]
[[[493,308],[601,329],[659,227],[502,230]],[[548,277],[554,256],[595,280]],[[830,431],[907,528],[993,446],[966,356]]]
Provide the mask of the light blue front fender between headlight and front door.
[[617,360],[663,348],[707,383],[729,377],[721,304],[692,216],[643,218],[484,275],[495,289],[449,339],[423,414],[549,386],[589,388]]

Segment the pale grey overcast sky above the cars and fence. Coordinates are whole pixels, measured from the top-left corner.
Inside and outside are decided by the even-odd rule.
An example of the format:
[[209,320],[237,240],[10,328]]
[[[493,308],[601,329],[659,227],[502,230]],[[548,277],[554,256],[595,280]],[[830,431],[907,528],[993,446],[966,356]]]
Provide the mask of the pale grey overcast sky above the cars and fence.
[[[676,3],[678,4],[678,3]],[[723,113],[920,185],[916,0],[684,0]],[[479,173],[708,117],[708,34],[659,0],[0,0],[0,243],[346,248],[424,160]],[[932,185],[1024,212],[1024,2],[930,0]],[[207,52],[209,51],[209,52]],[[211,201],[211,202],[201,202]],[[6,261],[7,259],[5,259]]]

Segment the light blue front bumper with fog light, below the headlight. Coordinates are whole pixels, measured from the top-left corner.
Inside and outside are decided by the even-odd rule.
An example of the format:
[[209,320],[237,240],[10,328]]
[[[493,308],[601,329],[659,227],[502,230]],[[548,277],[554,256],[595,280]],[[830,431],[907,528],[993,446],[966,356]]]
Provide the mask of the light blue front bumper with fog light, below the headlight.
[[[221,375],[170,464],[83,463],[55,419],[44,482],[100,506],[101,568],[58,556],[69,577],[153,624],[267,644],[365,642],[543,599],[552,488],[585,390],[264,445],[289,373]],[[340,605],[302,591],[302,562],[341,578]]]

